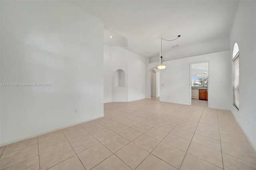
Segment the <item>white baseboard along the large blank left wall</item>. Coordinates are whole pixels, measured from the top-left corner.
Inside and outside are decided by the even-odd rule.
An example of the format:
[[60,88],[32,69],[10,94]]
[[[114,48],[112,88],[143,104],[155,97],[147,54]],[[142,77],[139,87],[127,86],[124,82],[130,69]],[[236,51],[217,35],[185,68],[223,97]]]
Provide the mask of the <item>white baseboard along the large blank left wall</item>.
[[80,124],[80,123],[92,121],[92,120],[94,120],[94,119],[98,119],[98,118],[101,118],[101,117],[104,117],[104,115],[98,116],[98,117],[94,117],[94,118],[92,118],[92,119],[87,119],[86,121],[81,121],[81,122],[74,123],[74,124],[71,124],[71,125],[63,126],[63,127],[60,127],[60,128],[55,128],[55,129],[52,129],[52,130],[48,130],[48,131],[45,131],[45,132],[42,132],[42,133],[38,133],[38,134],[33,134],[33,135],[30,135],[30,136],[26,136],[26,137],[24,137],[24,138],[19,138],[19,139],[16,139],[16,140],[11,140],[11,141],[9,141],[9,142],[4,142],[4,143],[1,143],[0,146],[4,146],[4,145],[11,144],[11,143],[14,143],[14,142],[18,142],[18,141],[21,141],[21,140],[33,138],[33,137],[36,137],[36,136],[40,136],[40,135],[42,135],[42,134],[54,132],[54,131],[60,130],[60,129],[62,129],[62,128],[72,127],[72,126],[74,126],[74,125],[78,125],[78,124]]

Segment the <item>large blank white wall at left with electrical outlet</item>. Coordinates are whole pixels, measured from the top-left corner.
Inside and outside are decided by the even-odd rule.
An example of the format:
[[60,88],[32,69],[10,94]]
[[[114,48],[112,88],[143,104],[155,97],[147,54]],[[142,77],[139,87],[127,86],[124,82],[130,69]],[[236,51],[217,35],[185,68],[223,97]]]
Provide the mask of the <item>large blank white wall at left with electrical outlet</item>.
[[1,87],[1,145],[103,116],[103,22],[66,1],[1,1],[1,83],[52,83]]

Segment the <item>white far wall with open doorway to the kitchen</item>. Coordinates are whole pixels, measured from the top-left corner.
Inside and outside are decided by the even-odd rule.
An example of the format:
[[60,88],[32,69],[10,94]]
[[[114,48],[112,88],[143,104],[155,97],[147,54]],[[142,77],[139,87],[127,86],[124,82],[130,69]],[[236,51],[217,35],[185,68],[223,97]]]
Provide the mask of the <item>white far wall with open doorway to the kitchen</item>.
[[[190,63],[209,61],[209,107],[229,110],[230,80],[227,78],[230,77],[229,54],[228,50],[165,61],[166,69],[160,70],[160,101],[190,105]],[[157,64],[150,63],[148,68]]]

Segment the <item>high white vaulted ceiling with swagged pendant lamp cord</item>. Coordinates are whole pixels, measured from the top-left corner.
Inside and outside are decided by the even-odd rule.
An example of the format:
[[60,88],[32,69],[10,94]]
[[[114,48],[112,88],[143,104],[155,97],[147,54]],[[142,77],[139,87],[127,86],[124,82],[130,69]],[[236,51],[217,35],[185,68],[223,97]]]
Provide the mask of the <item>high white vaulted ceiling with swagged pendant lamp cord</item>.
[[[229,36],[238,1],[70,1],[104,22],[104,43],[145,57]],[[109,38],[113,36],[113,38]],[[173,45],[179,47],[172,48]],[[148,51],[148,53],[145,53]]]

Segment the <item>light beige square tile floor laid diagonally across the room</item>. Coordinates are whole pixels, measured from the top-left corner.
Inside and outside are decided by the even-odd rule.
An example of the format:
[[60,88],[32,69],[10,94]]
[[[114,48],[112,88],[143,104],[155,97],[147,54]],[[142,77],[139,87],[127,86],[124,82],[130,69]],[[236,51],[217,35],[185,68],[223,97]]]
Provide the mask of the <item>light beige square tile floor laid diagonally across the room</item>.
[[144,99],[105,117],[0,147],[1,170],[256,170],[230,111]]

